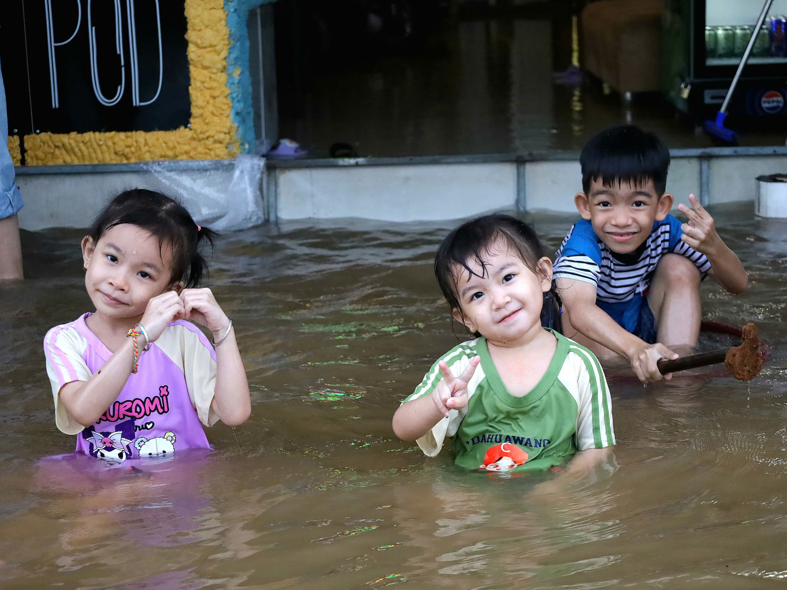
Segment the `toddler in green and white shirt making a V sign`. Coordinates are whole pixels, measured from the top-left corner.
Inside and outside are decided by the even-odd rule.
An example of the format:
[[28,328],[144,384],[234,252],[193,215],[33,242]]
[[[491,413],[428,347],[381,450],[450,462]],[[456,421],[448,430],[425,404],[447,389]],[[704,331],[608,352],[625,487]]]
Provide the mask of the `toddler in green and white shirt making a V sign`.
[[475,338],[441,356],[397,409],[397,436],[429,456],[451,437],[468,469],[603,463],[615,444],[604,371],[587,348],[541,326],[554,287],[534,231],[507,215],[472,219],[443,240],[434,273]]

